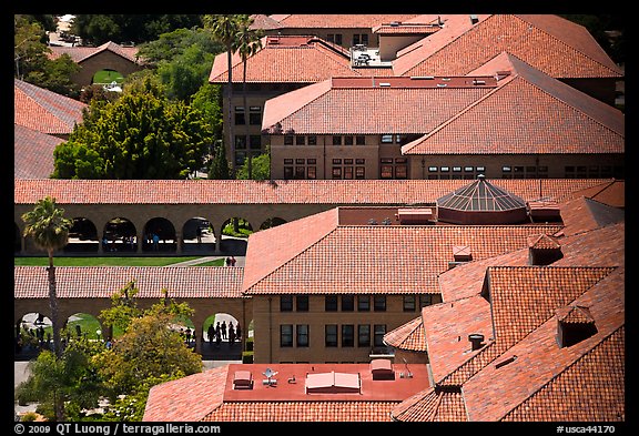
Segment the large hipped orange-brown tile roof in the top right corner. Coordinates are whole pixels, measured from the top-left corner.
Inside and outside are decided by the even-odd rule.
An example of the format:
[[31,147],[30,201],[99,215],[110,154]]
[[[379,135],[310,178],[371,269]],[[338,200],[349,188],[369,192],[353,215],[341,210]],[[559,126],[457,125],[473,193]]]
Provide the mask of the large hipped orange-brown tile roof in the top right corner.
[[440,31],[393,62],[395,75],[464,75],[507,51],[554,78],[622,77],[582,26],[552,14],[476,17],[442,16]]

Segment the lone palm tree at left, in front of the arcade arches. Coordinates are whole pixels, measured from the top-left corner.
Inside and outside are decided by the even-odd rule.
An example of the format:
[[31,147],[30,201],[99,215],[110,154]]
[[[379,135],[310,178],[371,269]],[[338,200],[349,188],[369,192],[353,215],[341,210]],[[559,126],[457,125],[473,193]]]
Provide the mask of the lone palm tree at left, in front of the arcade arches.
[[53,348],[55,357],[62,356],[60,341],[60,321],[58,318],[58,297],[55,294],[55,267],[53,266],[53,252],[62,249],[69,242],[69,231],[72,220],[64,216],[64,210],[55,205],[55,199],[47,196],[39,200],[32,211],[22,214],[27,224],[24,236],[31,236],[39,249],[49,254],[49,306],[51,308],[51,323],[53,328]]

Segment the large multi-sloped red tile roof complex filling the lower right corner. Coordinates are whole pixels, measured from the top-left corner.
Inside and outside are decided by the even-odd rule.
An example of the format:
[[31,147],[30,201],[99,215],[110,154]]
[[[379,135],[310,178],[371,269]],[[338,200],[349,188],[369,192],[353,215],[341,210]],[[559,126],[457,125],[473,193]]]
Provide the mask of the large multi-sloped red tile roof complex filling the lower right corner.
[[[623,419],[625,224],[557,241],[564,256],[550,266],[525,266],[523,249],[439,276],[444,303],[424,307],[420,320],[434,379],[464,393],[448,419],[465,420],[466,413],[471,420]],[[484,286],[490,303],[479,295]],[[598,333],[559,348],[557,321],[575,306],[586,307],[588,316],[579,320],[594,321]],[[484,334],[486,346],[470,352],[470,333]],[[500,363],[504,369],[496,367]],[[434,418],[434,396],[426,389],[393,415]],[[597,406],[585,410],[577,406],[584,400]]]

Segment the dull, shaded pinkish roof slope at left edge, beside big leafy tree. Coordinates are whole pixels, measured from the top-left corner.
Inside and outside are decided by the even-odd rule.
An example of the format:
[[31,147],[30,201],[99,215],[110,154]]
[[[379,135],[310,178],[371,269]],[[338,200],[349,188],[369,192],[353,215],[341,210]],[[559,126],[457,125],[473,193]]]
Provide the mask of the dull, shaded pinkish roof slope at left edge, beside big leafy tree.
[[64,140],[13,125],[13,178],[49,179],[53,172],[53,150]]

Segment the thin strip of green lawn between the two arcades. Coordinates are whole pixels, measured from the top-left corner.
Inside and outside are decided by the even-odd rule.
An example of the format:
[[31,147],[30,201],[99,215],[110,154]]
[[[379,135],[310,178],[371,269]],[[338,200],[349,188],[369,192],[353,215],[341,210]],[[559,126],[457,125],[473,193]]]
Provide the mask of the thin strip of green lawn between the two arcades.
[[[201,258],[202,256],[181,257],[53,257],[55,266],[165,266],[174,263]],[[49,257],[13,257],[14,266],[47,266]],[[222,266],[224,258],[197,264],[197,266]]]

